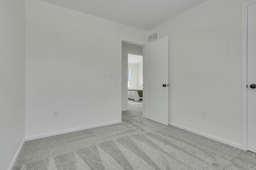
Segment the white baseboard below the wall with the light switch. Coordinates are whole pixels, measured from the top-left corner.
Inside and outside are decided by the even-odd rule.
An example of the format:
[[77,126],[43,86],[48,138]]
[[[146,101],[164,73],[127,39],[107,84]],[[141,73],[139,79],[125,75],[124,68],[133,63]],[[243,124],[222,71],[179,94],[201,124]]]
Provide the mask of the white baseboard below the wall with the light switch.
[[26,137],[26,141],[30,141],[30,140],[33,140],[33,139],[39,139],[39,138],[43,138],[43,137],[54,136],[54,135],[60,135],[60,134],[63,134],[63,133],[82,131],[82,130],[91,129],[91,128],[94,128],[94,127],[113,125],[113,124],[121,123],[121,122],[122,121],[120,121],[120,120],[118,120],[118,121],[110,121],[110,122],[106,122],[106,123],[99,123],[99,124],[94,124],[94,125],[89,125],[89,126],[84,126],[84,127],[78,127],[78,128],[73,128],[73,129],[66,129],[64,131],[55,131],[55,132],[43,133],[43,134],[39,134],[39,135],[32,135],[32,136]]

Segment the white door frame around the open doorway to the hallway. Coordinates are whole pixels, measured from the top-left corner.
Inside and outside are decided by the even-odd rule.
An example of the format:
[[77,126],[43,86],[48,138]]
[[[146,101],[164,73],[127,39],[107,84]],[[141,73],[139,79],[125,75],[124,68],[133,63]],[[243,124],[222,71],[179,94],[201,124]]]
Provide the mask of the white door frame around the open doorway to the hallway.
[[[120,44],[120,47],[119,47],[119,49],[120,49],[120,52],[119,52],[119,55],[120,55],[120,63],[119,63],[120,64],[120,68],[119,68],[120,78],[119,78],[119,80],[121,80],[121,83],[122,83],[122,42],[130,43],[130,44],[134,44],[134,45],[140,45],[143,47],[143,49],[142,49],[142,51],[143,51],[143,54],[142,54],[142,56],[143,56],[143,61],[142,61],[143,73],[142,74],[143,75],[144,75],[144,57],[145,57],[144,56],[144,45],[146,44],[144,42],[120,37],[120,43],[119,43]],[[131,53],[131,52],[129,52],[129,53]],[[128,63],[128,59],[127,59],[127,63]],[[143,82],[144,82],[144,76],[143,76]],[[128,96],[128,87],[126,87],[126,88],[127,88],[127,96]],[[119,113],[120,113],[119,119],[122,122],[122,88],[120,88],[119,92],[120,92],[119,101],[121,101],[119,103]],[[142,90],[142,93],[144,93],[144,89]],[[128,98],[127,98],[127,105],[128,105]],[[144,102],[142,105],[143,105],[142,116],[144,117]],[[127,106],[127,108],[128,108],[128,106]]]

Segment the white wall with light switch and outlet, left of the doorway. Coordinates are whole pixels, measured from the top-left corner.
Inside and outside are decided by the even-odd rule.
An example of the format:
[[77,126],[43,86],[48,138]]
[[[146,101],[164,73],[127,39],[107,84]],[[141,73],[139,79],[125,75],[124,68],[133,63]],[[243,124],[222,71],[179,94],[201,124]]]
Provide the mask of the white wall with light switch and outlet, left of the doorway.
[[121,37],[147,32],[26,0],[26,137],[121,121]]

